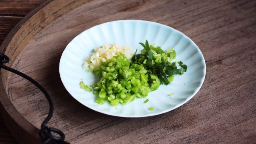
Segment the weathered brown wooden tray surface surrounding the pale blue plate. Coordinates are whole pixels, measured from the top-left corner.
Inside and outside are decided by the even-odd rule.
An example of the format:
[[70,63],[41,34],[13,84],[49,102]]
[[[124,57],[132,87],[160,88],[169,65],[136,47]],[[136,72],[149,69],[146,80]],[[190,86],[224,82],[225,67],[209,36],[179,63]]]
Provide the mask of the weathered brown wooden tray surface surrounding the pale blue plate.
[[[67,141],[255,143],[256,1],[70,0],[52,10],[57,2],[24,21],[1,50],[14,55],[11,67],[28,74],[50,93],[55,110],[49,126],[63,130]],[[169,113],[121,118],[90,110],[70,96],[58,73],[62,51],[80,32],[120,19],[171,26],[199,46],[206,61],[206,77],[195,97]],[[17,75],[1,73],[8,99],[39,128],[48,113],[42,93]]]

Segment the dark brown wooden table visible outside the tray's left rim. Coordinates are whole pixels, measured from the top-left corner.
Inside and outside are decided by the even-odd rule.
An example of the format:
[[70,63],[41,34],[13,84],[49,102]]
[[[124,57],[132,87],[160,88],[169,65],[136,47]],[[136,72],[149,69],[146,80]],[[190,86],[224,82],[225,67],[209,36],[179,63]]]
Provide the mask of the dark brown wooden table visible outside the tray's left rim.
[[[26,15],[30,10],[36,8],[46,0],[2,0],[0,1],[0,45],[11,31],[11,29]],[[0,143],[17,144],[0,115]]]

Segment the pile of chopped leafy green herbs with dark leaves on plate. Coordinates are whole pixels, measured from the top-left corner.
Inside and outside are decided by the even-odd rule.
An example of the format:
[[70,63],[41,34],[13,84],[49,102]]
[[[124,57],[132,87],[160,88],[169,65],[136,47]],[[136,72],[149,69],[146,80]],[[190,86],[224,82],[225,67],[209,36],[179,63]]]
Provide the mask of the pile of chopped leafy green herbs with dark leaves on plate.
[[[146,40],[145,44],[139,43],[144,49],[141,50],[141,54],[133,55],[132,63],[142,64],[148,74],[157,75],[160,79],[160,84],[168,85],[173,80],[174,74],[183,74],[187,71],[187,66],[183,62],[171,61],[176,58],[176,51],[174,48],[163,51],[161,47],[150,45]],[[176,64],[179,64],[181,68],[178,68]],[[172,80],[171,80],[172,79]],[[148,83],[152,84],[152,80]]]

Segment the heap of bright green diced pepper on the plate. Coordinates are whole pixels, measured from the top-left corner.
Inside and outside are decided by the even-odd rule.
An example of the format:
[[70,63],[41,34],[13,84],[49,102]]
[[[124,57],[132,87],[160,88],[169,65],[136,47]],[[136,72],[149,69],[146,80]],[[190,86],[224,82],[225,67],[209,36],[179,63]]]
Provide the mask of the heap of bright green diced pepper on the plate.
[[[114,56],[104,62],[100,67],[93,70],[100,80],[92,85],[95,93],[99,93],[97,101],[102,100],[111,102],[112,106],[127,104],[137,97],[146,97],[152,89],[157,89],[160,80],[157,76],[149,77],[143,65],[130,64],[123,54]],[[155,81],[149,85],[148,81]]]

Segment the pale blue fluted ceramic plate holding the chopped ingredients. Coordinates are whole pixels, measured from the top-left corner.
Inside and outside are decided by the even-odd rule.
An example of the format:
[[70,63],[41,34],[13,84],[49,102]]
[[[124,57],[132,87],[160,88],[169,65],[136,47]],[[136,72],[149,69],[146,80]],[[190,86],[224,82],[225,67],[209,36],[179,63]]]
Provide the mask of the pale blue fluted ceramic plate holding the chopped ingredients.
[[[170,85],[160,85],[157,91],[150,92],[145,99],[137,98],[126,105],[111,106],[105,102],[103,105],[95,103],[96,95],[79,88],[79,82],[84,80],[86,85],[94,84],[98,78],[82,69],[83,59],[88,57],[95,47],[105,43],[131,46],[132,51],[142,47],[139,42],[149,41],[163,50],[174,47],[177,61],[188,66],[183,75],[175,75]],[[77,35],[63,51],[59,73],[67,91],[86,107],[100,113],[121,117],[145,117],[169,112],[190,100],[201,88],[206,72],[205,61],[198,46],[186,35],[171,27],[149,21],[120,20],[107,22]],[[168,96],[174,93],[173,96]],[[117,109],[116,109],[117,107]],[[149,111],[154,107],[154,111]]]

